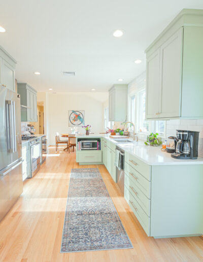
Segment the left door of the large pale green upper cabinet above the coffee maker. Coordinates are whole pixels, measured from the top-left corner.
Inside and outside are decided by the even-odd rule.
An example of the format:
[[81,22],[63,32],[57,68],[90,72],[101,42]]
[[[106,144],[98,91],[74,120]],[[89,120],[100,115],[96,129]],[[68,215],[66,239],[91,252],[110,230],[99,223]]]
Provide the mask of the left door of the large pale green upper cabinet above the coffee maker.
[[146,118],[158,118],[160,49],[147,59]]

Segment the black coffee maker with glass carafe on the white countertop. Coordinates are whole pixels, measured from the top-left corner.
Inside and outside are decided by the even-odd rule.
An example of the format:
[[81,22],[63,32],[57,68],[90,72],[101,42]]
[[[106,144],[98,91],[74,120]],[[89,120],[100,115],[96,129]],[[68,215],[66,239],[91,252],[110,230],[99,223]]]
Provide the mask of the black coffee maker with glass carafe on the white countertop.
[[178,159],[196,159],[198,157],[199,132],[176,130],[175,152],[171,154]]

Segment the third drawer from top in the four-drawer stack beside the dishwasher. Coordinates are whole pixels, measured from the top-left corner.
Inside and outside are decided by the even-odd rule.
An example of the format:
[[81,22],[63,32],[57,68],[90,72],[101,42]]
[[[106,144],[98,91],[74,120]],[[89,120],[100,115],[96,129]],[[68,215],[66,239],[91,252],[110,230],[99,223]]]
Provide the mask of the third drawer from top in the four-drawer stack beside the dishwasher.
[[134,199],[140,204],[145,213],[150,216],[151,200],[139,189],[127,174],[125,174],[125,186],[133,195]]

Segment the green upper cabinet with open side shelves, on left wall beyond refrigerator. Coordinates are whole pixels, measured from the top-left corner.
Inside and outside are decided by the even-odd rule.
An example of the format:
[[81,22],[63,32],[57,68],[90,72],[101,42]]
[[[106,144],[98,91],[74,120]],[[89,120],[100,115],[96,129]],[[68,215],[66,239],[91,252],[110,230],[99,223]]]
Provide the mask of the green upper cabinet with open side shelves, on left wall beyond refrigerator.
[[20,94],[21,122],[37,122],[37,91],[26,83],[18,83]]

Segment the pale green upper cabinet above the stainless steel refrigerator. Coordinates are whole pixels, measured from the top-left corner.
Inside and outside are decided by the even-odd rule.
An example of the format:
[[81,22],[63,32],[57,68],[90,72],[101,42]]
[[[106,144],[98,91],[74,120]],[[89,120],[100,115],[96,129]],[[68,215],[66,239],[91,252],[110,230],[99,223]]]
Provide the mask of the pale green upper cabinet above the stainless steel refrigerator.
[[15,92],[16,60],[0,46],[0,85]]

